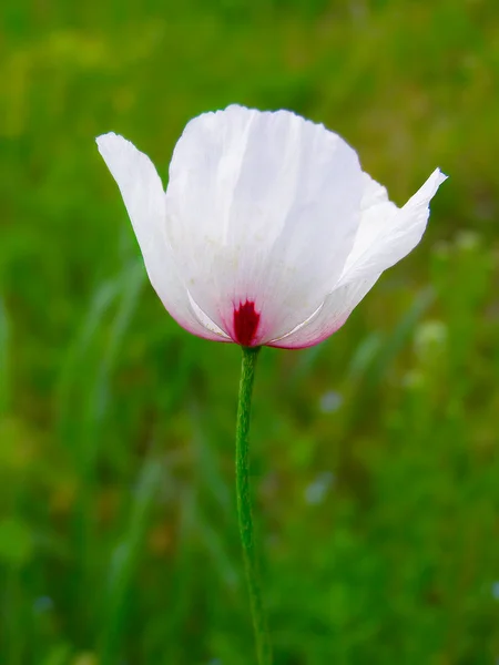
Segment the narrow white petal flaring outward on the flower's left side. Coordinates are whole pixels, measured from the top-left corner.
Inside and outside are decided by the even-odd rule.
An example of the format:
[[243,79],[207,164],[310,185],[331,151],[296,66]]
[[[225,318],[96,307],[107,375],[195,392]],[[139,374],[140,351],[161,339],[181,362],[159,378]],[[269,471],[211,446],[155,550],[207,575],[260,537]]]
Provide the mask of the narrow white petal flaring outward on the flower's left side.
[[151,160],[116,134],[96,139],[99,152],[120,187],[126,211],[155,291],[172,317],[184,328],[206,339],[223,340],[198,320],[189,293],[180,279],[164,233],[165,196]]

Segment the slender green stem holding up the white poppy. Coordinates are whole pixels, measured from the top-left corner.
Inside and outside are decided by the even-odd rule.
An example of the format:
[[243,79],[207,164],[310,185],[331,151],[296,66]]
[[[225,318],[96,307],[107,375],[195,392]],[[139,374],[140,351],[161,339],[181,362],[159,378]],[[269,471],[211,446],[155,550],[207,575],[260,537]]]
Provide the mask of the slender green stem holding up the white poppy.
[[258,665],[272,665],[271,638],[262,602],[258,566],[255,554],[252,498],[249,489],[249,420],[255,366],[259,347],[242,347],[242,349],[243,366],[241,370],[236,428],[237,515],[240,520],[241,541],[243,544],[244,566],[246,569],[247,590],[252,606],[257,662]]

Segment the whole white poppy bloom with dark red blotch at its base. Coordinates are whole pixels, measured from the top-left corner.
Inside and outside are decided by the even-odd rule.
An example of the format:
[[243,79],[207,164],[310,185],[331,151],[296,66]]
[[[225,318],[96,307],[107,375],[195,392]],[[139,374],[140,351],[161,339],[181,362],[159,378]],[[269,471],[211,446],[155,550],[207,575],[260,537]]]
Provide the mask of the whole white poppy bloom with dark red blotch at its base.
[[337,134],[288,111],[242,106],[192,120],[166,192],[150,158],[96,140],[151,283],[190,332],[302,348],[335,332],[420,241],[437,168],[398,208]]

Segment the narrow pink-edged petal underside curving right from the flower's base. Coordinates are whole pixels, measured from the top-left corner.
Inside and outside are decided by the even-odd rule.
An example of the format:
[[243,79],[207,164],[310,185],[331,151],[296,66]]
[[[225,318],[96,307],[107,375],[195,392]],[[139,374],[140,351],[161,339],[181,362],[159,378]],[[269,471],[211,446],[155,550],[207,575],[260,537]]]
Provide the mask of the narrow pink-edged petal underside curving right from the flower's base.
[[324,341],[345,324],[379,276],[380,273],[335,289],[308,321],[298,326],[289,335],[272,341],[268,346],[301,349]]

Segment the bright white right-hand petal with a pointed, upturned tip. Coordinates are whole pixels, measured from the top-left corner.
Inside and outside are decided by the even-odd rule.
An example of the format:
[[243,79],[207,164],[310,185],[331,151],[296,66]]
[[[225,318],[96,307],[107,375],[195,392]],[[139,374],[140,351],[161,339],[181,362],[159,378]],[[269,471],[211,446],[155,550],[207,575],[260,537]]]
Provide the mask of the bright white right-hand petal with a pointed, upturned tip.
[[407,256],[421,239],[429,216],[429,202],[447,178],[437,168],[403,208],[388,201],[386,190],[369,178],[367,201],[339,284],[381,273]]

